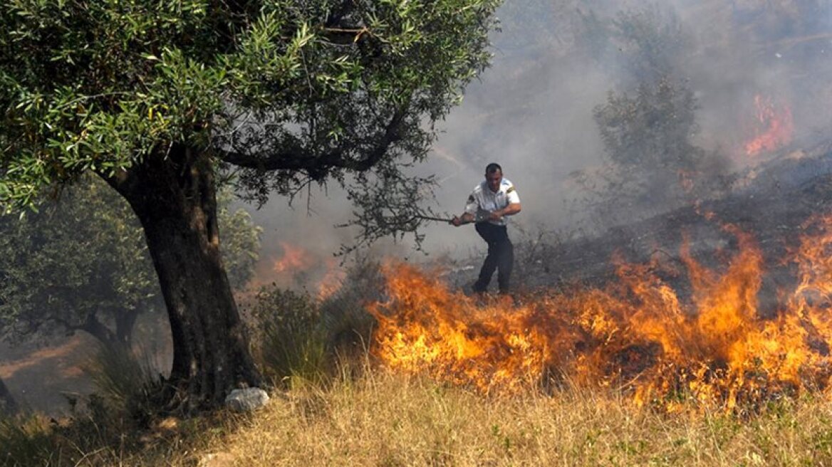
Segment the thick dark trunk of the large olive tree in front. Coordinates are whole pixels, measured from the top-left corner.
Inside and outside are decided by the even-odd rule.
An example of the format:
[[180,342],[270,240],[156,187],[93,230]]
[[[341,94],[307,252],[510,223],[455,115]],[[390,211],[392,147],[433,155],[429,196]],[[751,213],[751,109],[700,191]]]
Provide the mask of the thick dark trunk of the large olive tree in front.
[[168,408],[211,409],[260,385],[220,259],[211,161],[173,145],[107,181],[141,221],[159,276],[173,337]]

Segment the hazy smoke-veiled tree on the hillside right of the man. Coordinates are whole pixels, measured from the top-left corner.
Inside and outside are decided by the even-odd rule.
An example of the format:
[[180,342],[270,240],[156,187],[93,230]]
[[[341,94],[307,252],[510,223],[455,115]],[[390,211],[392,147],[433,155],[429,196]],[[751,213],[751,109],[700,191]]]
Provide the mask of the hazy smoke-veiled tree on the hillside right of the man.
[[597,217],[616,224],[706,199],[727,188],[728,161],[691,142],[696,99],[663,79],[635,94],[610,92],[594,118],[604,165],[573,175]]

